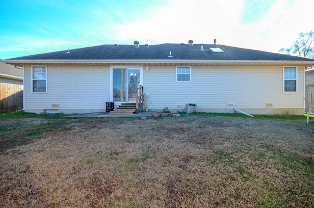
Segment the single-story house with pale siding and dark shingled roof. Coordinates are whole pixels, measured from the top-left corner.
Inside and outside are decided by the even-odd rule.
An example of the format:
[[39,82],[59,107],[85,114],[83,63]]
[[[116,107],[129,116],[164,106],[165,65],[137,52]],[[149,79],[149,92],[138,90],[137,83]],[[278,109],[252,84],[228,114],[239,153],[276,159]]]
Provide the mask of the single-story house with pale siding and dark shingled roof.
[[26,112],[90,113],[134,103],[149,110],[303,115],[314,60],[214,44],[101,45],[3,60],[24,67]]

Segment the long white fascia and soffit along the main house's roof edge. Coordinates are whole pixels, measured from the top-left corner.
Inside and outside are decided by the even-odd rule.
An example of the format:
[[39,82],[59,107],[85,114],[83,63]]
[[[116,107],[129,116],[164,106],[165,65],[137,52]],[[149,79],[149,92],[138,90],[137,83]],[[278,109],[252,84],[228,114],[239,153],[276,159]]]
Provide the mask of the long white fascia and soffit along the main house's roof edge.
[[204,64],[204,65],[210,65],[210,64],[222,64],[222,65],[271,65],[271,64],[282,64],[282,65],[299,65],[299,66],[313,66],[314,61],[273,61],[273,60],[180,60],[180,59],[110,59],[110,60],[102,60],[102,59],[19,59],[19,60],[4,60],[2,61],[7,64],[12,65],[20,65],[20,63],[23,64],[111,64],[111,63],[121,63],[121,64],[127,64],[127,63],[137,63],[137,64],[161,64],[161,63],[192,63],[192,64]]

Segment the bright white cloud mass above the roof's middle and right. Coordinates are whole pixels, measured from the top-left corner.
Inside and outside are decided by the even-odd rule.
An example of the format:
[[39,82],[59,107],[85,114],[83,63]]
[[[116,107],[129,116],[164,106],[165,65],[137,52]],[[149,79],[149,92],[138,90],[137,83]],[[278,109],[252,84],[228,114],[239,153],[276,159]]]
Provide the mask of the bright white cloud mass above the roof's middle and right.
[[[244,1],[173,0],[170,5],[128,26],[115,26],[117,41],[142,44],[212,43],[278,52],[314,22],[313,0],[277,0],[262,19],[242,24]],[[149,42],[150,41],[150,42]]]

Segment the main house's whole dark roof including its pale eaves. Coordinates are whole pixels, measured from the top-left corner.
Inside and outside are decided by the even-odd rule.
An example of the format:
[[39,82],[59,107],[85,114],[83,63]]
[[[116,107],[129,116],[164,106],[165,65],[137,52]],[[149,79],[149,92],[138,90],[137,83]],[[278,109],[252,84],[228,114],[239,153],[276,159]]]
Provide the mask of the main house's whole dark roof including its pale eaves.
[[[203,45],[204,50],[201,50]],[[223,52],[212,52],[209,48],[220,48]],[[170,55],[171,52],[171,55]],[[191,64],[221,65],[222,63],[238,65],[282,65],[300,64],[314,65],[313,59],[262,52],[224,45],[210,44],[160,44],[160,45],[101,45],[69,52],[50,52],[4,60],[15,65],[29,64],[71,64],[71,65],[113,65],[113,64]]]

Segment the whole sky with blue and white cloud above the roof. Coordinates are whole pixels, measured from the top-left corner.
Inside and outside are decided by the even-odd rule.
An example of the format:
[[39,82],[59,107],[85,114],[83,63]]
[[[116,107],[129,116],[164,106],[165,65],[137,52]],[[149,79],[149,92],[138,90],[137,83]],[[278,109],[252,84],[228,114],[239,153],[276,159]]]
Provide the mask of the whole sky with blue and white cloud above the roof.
[[313,23],[314,0],[1,0],[0,58],[134,40],[278,52]]

